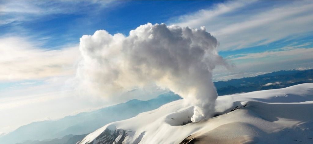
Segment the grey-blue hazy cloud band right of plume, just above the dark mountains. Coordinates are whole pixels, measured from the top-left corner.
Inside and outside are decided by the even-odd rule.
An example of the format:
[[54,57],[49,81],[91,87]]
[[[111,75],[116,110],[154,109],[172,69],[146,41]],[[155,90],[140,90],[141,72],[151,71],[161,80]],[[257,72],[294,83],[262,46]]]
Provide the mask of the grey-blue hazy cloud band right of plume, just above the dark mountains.
[[313,65],[313,48],[303,48],[301,45],[287,46],[283,51],[264,51],[258,53],[235,54],[226,57],[227,61],[236,67],[225,72],[223,68],[216,69],[214,81],[227,81],[234,78],[253,77],[264,73],[280,70],[307,70]]

